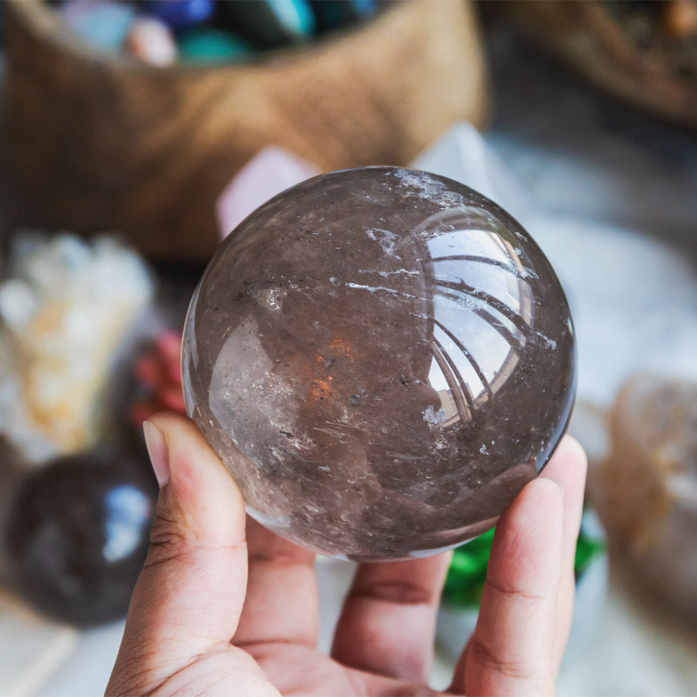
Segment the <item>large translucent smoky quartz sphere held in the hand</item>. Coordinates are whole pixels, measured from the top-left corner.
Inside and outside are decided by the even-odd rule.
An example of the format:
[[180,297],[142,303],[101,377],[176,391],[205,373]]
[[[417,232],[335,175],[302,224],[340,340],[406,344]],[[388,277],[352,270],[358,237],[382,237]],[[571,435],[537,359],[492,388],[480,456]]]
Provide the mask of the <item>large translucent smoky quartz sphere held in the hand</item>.
[[249,512],[356,560],[483,533],[558,443],[569,307],[481,194],[395,167],[318,176],[224,240],[191,301],[187,411]]

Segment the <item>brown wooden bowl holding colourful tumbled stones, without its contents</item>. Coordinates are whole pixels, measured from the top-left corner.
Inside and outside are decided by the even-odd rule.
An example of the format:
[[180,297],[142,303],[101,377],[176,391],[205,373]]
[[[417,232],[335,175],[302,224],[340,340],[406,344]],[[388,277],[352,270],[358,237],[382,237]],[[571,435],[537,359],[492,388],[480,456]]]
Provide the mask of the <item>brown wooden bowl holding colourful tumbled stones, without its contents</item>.
[[405,164],[487,112],[466,2],[397,2],[360,29],[210,69],[100,54],[44,3],[7,9],[10,177],[29,200],[17,222],[123,231],[153,256],[210,256],[215,198],[263,146],[324,171]]

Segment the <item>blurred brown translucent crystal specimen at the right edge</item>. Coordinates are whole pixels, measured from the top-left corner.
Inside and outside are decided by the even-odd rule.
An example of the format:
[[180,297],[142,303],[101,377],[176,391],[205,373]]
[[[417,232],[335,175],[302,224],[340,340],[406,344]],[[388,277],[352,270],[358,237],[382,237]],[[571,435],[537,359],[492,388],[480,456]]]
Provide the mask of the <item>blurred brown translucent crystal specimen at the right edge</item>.
[[636,375],[610,411],[589,491],[632,581],[697,622],[697,384]]

